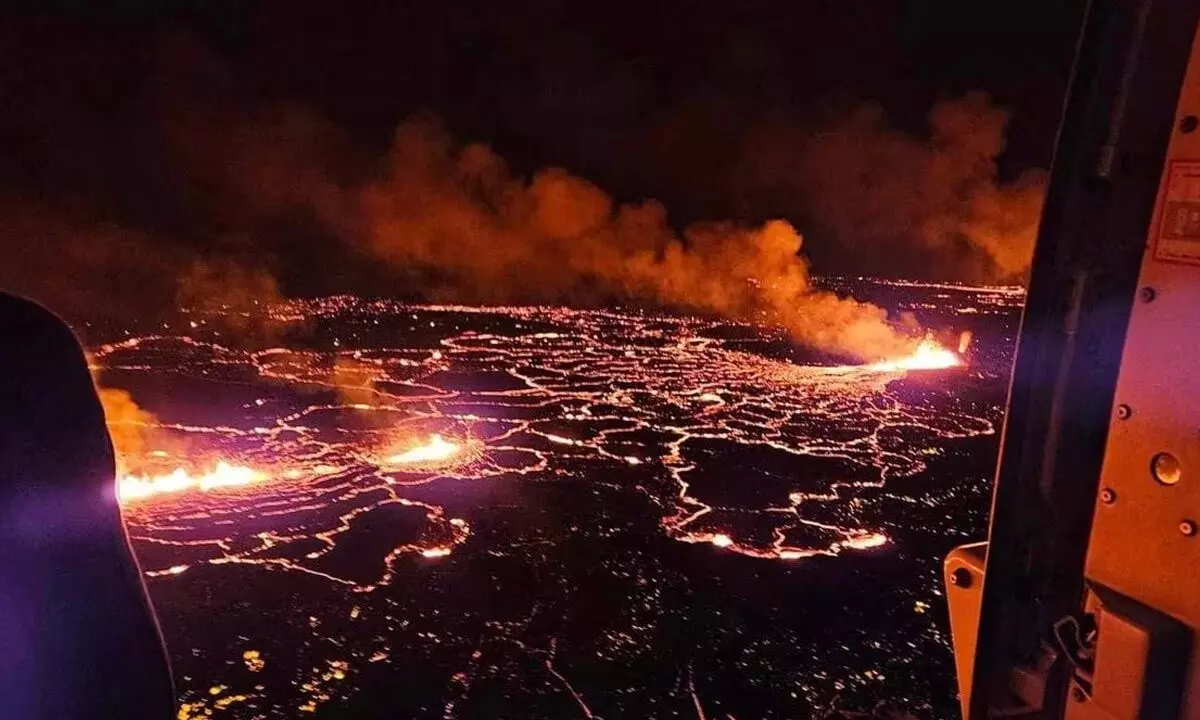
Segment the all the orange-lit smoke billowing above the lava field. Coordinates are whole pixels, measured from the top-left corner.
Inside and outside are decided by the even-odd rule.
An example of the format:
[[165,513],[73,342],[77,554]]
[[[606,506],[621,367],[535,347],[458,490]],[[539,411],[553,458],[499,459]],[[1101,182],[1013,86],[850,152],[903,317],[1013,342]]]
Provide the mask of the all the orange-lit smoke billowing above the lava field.
[[[185,80],[163,88],[214,74],[182,66],[173,72]],[[920,330],[816,288],[793,222],[811,242],[864,260],[966,247],[986,265],[980,275],[1019,278],[1040,206],[1039,174],[998,180],[1007,114],[983,95],[934,108],[928,138],[890,130],[877,109],[816,128],[785,124],[761,143],[732,138],[744,169],[721,180],[770,199],[746,202],[755,217],[791,222],[682,230],[655,200],[622,204],[558,168],[515,173],[427,116],[402,124],[372,163],[302,109],[246,110],[221,88],[182,95],[162,98],[163,151],[148,152],[169,176],[155,187],[169,200],[146,212],[157,224],[0,200],[11,258],[0,287],[109,328],[185,306],[220,325],[223,341],[257,344],[276,332],[259,307],[298,290],[654,304],[778,324],[870,361],[911,352]]]

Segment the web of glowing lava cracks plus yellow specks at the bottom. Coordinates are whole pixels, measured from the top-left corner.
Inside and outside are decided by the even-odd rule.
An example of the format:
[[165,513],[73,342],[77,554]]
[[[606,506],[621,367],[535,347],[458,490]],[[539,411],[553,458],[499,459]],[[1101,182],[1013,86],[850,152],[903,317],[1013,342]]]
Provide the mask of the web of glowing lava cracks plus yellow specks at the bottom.
[[[859,491],[995,432],[996,418],[970,404],[899,391],[966,372],[925,344],[913,362],[803,365],[755,352],[762,332],[750,326],[637,312],[338,296],[272,317],[317,324],[319,342],[241,350],[200,318],[186,335],[95,348],[103,383],[160,392],[146,403],[157,425],[140,428],[151,440],[121,458],[120,482],[155,583],[236,566],[370,598],[402,565],[517,552],[476,524],[500,522],[520,484],[618,493],[689,552],[785,564],[872,552],[889,534],[863,518]],[[246,665],[264,662],[245,652]],[[364,650],[359,665],[391,652]],[[528,653],[571,689],[552,643]],[[307,688],[294,710],[349,696],[337,688],[353,668],[322,662],[294,680]],[[253,685],[239,692],[185,692],[194,715],[181,716],[253,704]]]

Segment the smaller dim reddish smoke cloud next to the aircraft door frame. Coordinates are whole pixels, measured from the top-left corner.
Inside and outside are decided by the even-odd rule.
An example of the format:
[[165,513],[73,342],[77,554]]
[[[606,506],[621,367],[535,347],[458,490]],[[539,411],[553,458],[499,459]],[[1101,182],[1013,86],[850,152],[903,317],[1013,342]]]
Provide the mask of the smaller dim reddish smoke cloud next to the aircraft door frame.
[[[871,258],[940,269],[943,277],[1024,281],[1045,173],[1010,182],[996,161],[1009,114],[982,92],[930,110],[928,134],[890,127],[865,106],[817,128],[780,127],[748,143],[740,179],[772,211],[805,216],[822,241]],[[966,253],[964,268],[961,254]],[[886,268],[877,268],[886,270]]]

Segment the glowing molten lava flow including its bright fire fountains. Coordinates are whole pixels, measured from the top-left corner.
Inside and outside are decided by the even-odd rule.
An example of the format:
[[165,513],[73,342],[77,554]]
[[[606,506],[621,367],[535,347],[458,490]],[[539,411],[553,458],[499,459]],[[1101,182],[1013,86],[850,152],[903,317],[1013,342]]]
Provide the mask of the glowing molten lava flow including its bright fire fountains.
[[[986,306],[974,295],[971,302]],[[404,336],[409,325],[432,328],[437,344],[245,352],[188,336],[150,336],[95,352],[98,367],[145,373],[168,388],[179,367],[204,376],[234,364],[258,374],[256,389],[325,388],[338,396],[335,406],[307,404],[308,392],[264,391],[229,409],[245,416],[245,426],[168,425],[122,414],[115,403],[110,422],[150,430],[137,436],[140,444],[120,449],[126,469],[119,476],[136,532],[163,554],[146,568],[151,577],[169,581],[188,568],[235,563],[372,592],[392,582],[404,556],[452,563],[470,538],[468,521],[446,515],[419,486],[559,473],[614,475],[641,488],[661,479],[653,492],[666,535],[722,554],[793,562],[869,551],[888,539],[863,526],[847,505],[848,488],[912,476],[937,444],[994,432],[988,418],[934,408],[932,400],[912,404],[888,389],[907,371],[965,365],[970,335],[911,338],[895,354],[881,344],[882,359],[874,364],[829,367],[715,340],[719,328],[700,318],[418,307],[348,296],[304,301],[288,312],[361,313]],[[493,324],[509,330],[469,329]],[[487,388],[443,388],[430,362],[478,372]],[[370,385],[371,392],[346,402],[348,384]],[[354,422],[343,424],[347,408],[358,410]],[[392,418],[398,424],[389,428]],[[880,428],[898,427],[916,430],[902,446],[884,450]],[[854,475],[821,474],[803,492],[780,480],[787,498],[780,504],[732,510],[715,503],[710,496],[724,487],[716,476],[728,470],[740,478],[737,463],[760,455],[781,463],[818,458],[817,466],[836,456]],[[606,463],[619,463],[619,470],[610,473]],[[348,548],[359,534],[380,527],[395,533],[395,542],[379,544],[384,554],[372,568],[383,568],[380,574],[364,574],[343,557],[353,556]],[[601,524],[596,532],[613,530]]]

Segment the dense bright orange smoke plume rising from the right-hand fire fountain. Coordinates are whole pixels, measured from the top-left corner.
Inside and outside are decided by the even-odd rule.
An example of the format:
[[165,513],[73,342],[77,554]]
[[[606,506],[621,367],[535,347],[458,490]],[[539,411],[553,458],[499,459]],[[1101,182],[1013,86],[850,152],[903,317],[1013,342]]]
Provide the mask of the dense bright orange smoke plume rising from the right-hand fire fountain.
[[400,127],[388,175],[355,196],[350,212],[343,227],[372,252],[433,269],[438,289],[457,299],[648,300],[778,323],[816,348],[863,359],[906,353],[919,340],[876,306],[815,289],[787,222],[696,224],[680,236],[653,200],[617,205],[558,168],[526,181],[428,119]]

